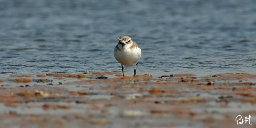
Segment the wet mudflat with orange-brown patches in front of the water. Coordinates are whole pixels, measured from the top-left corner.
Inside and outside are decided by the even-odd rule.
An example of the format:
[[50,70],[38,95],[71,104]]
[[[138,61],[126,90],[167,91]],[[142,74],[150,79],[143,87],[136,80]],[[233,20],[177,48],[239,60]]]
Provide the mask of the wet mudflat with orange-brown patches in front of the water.
[[[252,127],[256,75],[5,75],[0,127]],[[250,125],[236,116],[251,116]],[[244,122],[245,123],[245,122]]]

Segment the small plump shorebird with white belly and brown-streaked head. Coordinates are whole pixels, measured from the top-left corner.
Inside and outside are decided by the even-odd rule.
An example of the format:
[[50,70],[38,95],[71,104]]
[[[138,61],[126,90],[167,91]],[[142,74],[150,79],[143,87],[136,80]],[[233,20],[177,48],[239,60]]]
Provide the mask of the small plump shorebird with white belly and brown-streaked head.
[[130,67],[137,62],[136,67],[134,68],[134,74],[136,75],[136,68],[138,67],[138,61],[141,56],[140,46],[132,41],[132,38],[129,36],[121,36],[118,39],[118,44],[114,49],[114,56],[116,60],[121,63],[123,76],[124,76],[124,66]]

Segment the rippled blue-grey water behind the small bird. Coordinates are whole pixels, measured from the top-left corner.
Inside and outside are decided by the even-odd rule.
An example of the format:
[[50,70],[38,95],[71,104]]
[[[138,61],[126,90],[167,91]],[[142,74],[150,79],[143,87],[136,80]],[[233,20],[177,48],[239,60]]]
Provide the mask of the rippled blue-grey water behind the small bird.
[[[255,0],[1,0],[0,73],[119,71],[120,36],[137,74],[256,72]],[[134,65],[135,67],[135,65]],[[133,68],[126,68],[132,76]]]

